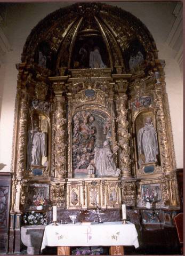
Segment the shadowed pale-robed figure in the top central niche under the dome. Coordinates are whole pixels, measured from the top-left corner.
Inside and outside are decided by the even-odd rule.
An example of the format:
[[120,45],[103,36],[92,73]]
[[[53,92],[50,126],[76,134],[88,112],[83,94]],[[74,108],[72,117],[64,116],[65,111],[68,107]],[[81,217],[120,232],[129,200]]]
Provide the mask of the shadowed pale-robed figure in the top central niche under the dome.
[[95,46],[94,51],[90,52],[89,66],[90,68],[107,68],[101,59],[100,49],[98,46]]

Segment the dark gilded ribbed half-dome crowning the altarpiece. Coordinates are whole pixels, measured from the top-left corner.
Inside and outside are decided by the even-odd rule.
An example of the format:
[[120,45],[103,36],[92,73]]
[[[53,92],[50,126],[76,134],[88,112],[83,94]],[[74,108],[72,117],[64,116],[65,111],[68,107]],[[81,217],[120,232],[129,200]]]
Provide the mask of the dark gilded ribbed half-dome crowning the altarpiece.
[[[88,14],[86,10],[89,10]],[[99,47],[105,48],[107,67],[122,66],[124,73],[128,71],[125,62],[129,61],[129,47],[135,41],[138,49],[133,51],[140,50],[146,61],[157,58],[154,38],[139,19],[111,5],[90,3],[59,9],[40,21],[26,41],[22,62],[36,61],[39,45],[45,42],[49,45],[47,54],[52,62],[48,67],[52,66],[54,73],[57,68],[74,68],[74,45],[79,47],[81,44],[82,47],[96,39],[101,41]]]

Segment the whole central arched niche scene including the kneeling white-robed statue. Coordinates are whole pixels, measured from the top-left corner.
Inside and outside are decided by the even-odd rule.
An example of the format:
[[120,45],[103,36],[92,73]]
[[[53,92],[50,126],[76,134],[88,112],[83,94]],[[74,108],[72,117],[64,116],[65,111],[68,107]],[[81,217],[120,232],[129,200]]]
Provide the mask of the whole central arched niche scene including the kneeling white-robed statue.
[[112,122],[107,113],[89,109],[73,117],[74,178],[118,177],[112,146]]

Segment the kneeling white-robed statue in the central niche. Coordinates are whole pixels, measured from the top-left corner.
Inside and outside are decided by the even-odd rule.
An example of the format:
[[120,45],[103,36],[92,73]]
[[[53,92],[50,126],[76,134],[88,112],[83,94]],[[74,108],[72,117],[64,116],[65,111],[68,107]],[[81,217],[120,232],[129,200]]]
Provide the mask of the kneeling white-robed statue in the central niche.
[[[117,149],[118,150],[118,149]],[[116,150],[116,151],[117,151]],[[116,153],[116,151],[114,153]],[[103,142],[103,148],[94,148],[94,165],[96,168],[96,175],[118,177],[120,170],[117,169],[113,154],[110,149],[110,141]]]

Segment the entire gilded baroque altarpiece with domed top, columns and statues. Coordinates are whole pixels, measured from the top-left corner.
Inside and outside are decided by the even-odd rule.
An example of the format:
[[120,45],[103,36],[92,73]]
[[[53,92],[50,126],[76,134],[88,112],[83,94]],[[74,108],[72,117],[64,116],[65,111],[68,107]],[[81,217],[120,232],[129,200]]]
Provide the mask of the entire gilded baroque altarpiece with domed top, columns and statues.
[[140,20],[106,4],[60,9],[17,69],[10,240],[41,201],[47,213],[179,209],[164,61]]

